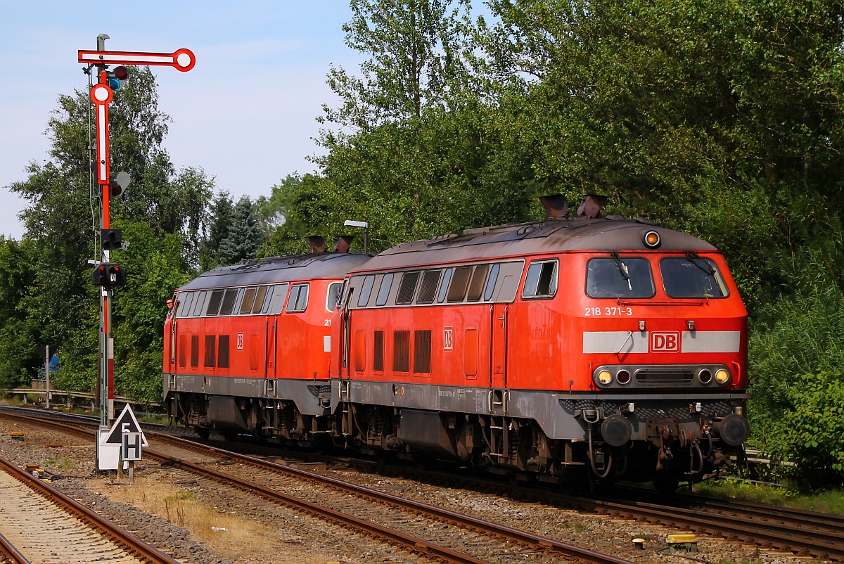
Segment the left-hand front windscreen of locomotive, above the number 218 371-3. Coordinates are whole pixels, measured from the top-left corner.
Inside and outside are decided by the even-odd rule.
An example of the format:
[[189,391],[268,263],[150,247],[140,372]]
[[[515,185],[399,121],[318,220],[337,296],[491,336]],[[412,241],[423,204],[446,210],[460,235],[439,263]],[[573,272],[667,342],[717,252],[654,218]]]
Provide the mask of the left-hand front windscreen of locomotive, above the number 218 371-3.
[[586,294],[591,298],[652,298],[656,295],[646,258],[592,258],[587,264]]

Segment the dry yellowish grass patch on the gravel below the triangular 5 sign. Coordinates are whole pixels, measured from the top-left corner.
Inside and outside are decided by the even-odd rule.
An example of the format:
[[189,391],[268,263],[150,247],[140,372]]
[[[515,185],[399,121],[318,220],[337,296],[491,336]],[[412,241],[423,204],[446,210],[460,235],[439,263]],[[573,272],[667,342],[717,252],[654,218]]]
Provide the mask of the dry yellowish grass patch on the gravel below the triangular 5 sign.
[[302,543],[295,532],[279,527],[271,529],[257,521],[208,506],[192,491],[181,490],[161,480],[136,476],[133,485],[102,487],[100,491],[116,502],[133,505],[188,529],[193,540],[235,562],[244,555],[278,564],[338,561],[337,556]]

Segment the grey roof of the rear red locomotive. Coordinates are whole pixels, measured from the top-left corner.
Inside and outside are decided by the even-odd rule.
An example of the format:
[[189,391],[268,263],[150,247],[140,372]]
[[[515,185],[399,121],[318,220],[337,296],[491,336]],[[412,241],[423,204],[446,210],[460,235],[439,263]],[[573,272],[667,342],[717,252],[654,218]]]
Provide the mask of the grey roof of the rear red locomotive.
[[307,255],[262,258],[259,262],[221,266],[199,274],[179,290],[273,284],[307,279],[342,279],[365,263],[362,252],[314,252]]

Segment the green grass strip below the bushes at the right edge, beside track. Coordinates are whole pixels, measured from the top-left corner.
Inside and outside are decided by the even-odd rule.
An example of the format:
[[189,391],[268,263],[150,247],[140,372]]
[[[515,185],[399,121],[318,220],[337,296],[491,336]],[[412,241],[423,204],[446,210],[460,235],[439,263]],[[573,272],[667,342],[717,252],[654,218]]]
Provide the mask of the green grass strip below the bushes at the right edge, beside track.
[[752,484],[726,479],[708,480],[701,484],[695,484],[694,491],[706,496],[726,497],[747,502],[766,503],[777,507],[844,515],[844,491],[840,490],[807,494],[797,488]]

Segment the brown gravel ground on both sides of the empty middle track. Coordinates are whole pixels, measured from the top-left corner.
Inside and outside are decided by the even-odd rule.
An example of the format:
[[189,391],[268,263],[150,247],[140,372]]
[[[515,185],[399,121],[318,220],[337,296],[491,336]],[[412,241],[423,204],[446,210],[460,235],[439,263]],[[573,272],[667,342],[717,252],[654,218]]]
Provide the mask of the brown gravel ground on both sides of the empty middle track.
[[[11,439],[10,431],[24,431],[24,442]],[[297,512],[268,504],[225,487],[210,485],[176,469],[161,468],[157,464],[139,463],[136,470],[138,485],[143,483],[172,485],[189,491],[198,502],[216,508],[220,514],[235,515],[266,528],[271,534],[261,534],[246,540],[246,548],[233,556],[229,550],[215,550],[214,541],[198,540],[201,531],[177,527],[164,516],[144,512],[133,505],[118,502],[125,498],[125,485],[115,485],[114,477],[101,477],[93,472],[94,447],[79,439],[57,437],[51,431],[36,430],[0,420],[0,455],[15,463],[39,464],[48,475],[56,478],[53,485],[73,496],[112,521],[147,540],[159,550],[177,560],[196,564],[257,564],[272,561],[277,564],[302,562],[422,562],[425,560],[381,545],[371,539],[352,534],[346,529],[310,518]],[[668,554],[665,544],[668,534],[679,532],[653,525],[582,514],[575,511],[547,507],[537,503],[516,502],[472,491],[463,491],[398,478],[369,475],[355,470],[331,470],[341,480],[367,485],[394,495],[408,496],[420,502],[447,507],[475,517],[504,523],[556,540],[588,547],[635,562],[662,564],[709,562],[711,564],[809,564],[819,562],[810,558],[760,550],[755,546],[736,542],[698,537],[699,552],[684,556]],[[59,478],[58,476],[61,476]],[[149,480],[144,482],[144,480]],[[124,491],[122,495],[118,495]],[[136,491],[135,493],[138,493]],[[114,498],[114,499],[111,499]],[[644,550],[636,550],[631,540],[636,536],[647,539]],[[224,541],[225,542],[225,541]],[[234,541],[233,541],[234,542]],[[219,547],[219,543],[217,544]]]

